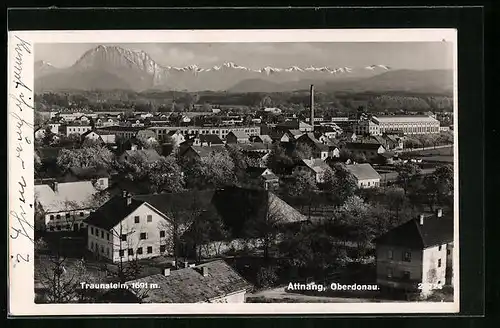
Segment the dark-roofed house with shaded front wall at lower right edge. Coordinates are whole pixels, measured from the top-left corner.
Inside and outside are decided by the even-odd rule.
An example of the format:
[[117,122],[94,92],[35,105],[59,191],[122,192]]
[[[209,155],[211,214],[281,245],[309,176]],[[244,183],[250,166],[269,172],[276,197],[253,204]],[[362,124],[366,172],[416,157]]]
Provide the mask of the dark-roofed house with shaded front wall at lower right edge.
[[[377,284],[428,294],[453,285],[453,215],[420,214],[375,239]],[[438,287],[439,288],[439,287]]]

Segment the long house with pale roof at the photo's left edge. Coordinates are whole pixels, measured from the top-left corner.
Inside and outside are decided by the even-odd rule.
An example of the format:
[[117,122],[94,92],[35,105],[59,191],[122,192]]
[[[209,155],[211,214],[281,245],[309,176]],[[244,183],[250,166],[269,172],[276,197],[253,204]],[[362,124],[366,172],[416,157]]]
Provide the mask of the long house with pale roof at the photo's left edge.
[[51,232],[84,228],[99,191],[92,181],[35,185],[35,228]]

